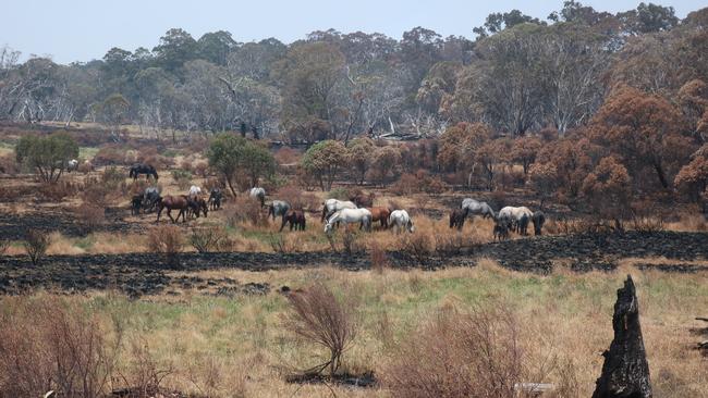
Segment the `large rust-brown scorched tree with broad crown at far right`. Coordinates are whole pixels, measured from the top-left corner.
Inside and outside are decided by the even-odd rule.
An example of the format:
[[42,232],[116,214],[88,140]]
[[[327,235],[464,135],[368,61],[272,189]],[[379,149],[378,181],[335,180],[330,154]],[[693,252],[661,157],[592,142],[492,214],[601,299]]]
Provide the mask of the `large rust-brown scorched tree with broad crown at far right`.
[[666,99],[628,86],[612,91],[590,127],[593,140],[620,157],[635,178],[649,167],[664,189],[692,152],[681,113]]

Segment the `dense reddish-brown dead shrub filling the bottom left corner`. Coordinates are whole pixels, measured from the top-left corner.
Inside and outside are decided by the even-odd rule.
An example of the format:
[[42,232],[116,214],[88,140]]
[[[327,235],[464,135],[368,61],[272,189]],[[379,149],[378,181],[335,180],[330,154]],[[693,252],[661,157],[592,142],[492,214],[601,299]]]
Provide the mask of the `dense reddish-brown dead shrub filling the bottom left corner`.
[[[78,304],[16,300],[0,314],[0,397],[101,397],[121,344]],[[109,338],[108,336],[111,336]]]

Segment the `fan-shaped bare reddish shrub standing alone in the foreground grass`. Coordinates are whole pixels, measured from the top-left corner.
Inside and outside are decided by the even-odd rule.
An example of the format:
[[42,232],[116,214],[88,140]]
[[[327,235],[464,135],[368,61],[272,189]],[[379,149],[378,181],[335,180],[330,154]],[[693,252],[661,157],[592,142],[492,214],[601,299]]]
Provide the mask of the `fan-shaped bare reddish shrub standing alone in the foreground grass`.
[[322,373],[329,368],[332,376],[342,364],[342,355],[356,337],[355,304],[346,298],[339,300],[325,285],[318,283],[288,296],[291,312],[285,328],[327,351],[325,361],[305,373]]

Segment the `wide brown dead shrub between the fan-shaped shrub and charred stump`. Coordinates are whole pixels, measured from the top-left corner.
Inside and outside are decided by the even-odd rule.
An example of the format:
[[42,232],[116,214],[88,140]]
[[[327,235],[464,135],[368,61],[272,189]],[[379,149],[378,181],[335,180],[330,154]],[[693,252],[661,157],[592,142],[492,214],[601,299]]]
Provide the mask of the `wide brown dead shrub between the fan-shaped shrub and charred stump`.
[[515,386],[545,374],[526,366],[520,328],[503,304],[442,309],[401,344],[383,384],[393,397],[525,397]]

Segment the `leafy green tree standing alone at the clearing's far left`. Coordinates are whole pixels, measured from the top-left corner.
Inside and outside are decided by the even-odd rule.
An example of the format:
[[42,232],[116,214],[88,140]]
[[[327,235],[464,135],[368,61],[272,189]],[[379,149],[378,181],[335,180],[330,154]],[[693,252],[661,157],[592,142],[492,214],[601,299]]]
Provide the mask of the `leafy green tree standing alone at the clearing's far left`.
[[78,145],[65,133],[47,137],[23,136],[15,147],[17,163],[35,169],[41,181],[56,183],[69,161],[78,158]]

